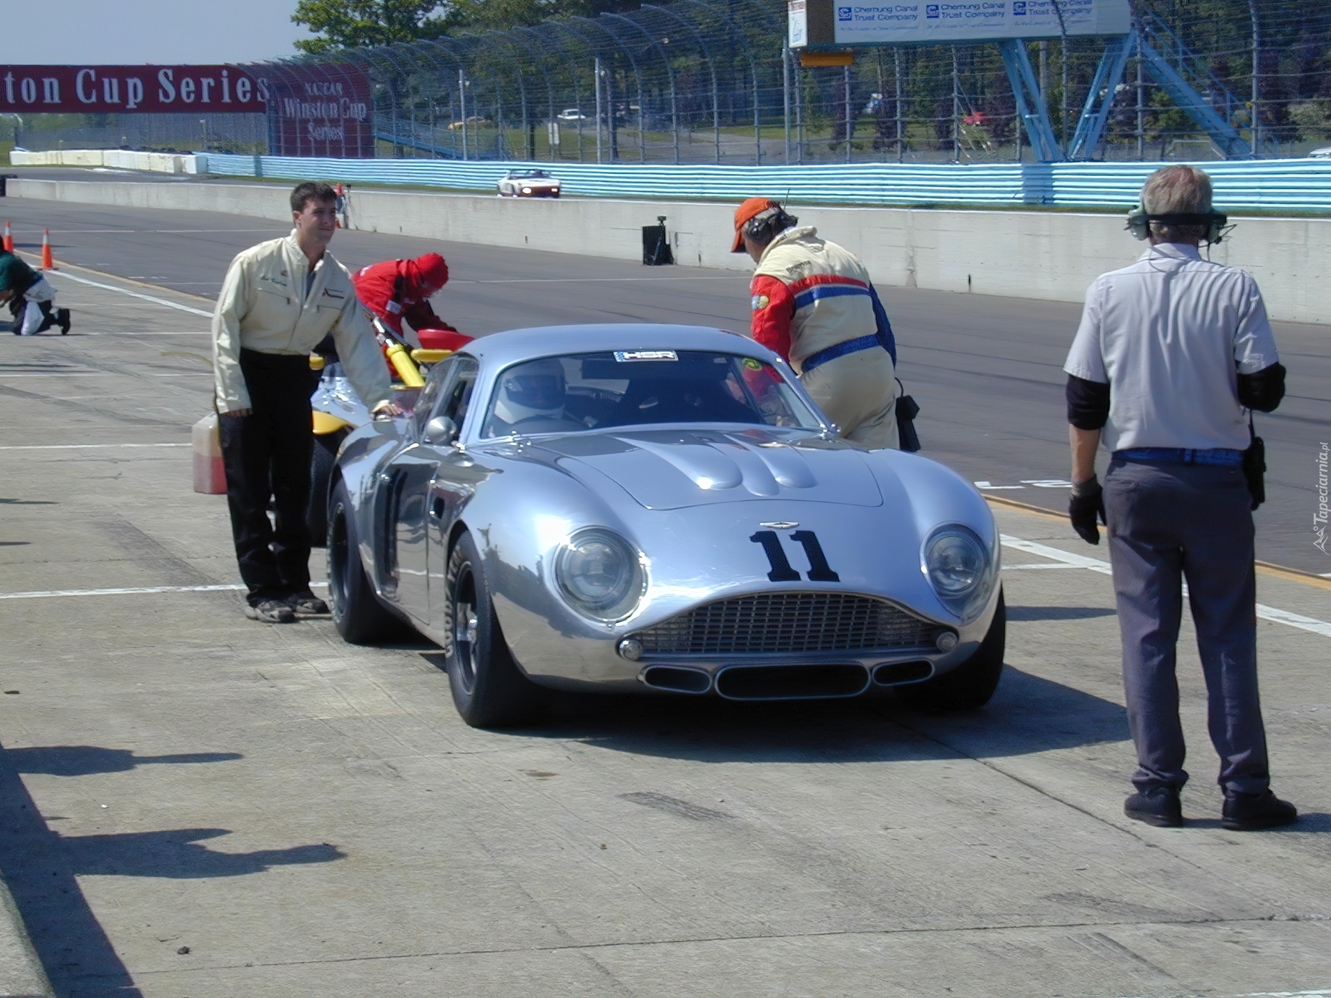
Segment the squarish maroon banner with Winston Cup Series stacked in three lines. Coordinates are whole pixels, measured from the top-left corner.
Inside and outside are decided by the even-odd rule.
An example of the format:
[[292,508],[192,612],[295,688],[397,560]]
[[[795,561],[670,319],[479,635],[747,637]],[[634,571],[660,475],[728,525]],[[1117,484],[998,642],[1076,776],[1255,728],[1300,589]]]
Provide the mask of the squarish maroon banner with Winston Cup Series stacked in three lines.
[[250,67],[269,93],[273,156],[374,158],[370,79],[350,64]]

